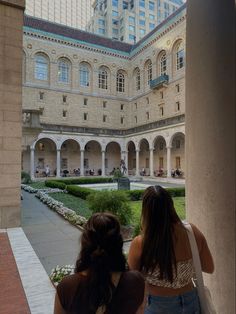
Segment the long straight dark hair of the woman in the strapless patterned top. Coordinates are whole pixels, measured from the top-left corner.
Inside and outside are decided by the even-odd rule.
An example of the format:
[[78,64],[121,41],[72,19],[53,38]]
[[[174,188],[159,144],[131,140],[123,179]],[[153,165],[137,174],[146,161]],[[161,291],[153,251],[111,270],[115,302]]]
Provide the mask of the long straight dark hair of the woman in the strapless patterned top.
[[142,203],[143,250],[141,270],[154,271],[158,266],[160,279],[173,282],[176,258],[173,245],[173,226],[181,220],[173,200],[161,186],[148,187]]

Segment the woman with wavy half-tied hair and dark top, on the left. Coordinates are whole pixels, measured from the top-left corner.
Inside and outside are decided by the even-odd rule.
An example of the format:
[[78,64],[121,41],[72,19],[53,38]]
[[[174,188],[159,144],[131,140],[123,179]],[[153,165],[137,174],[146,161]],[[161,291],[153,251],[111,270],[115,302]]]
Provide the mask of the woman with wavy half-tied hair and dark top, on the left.
[[144,279],[128,271],[120,224],[109,213],[94,214],[81,236],[75,274],[57,287],[54,314],[135,314]]

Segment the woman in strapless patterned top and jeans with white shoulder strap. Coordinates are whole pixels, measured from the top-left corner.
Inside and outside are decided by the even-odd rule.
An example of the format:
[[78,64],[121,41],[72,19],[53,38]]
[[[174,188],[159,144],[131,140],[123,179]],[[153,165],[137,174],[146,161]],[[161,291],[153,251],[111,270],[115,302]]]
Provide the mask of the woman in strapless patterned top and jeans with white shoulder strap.
[[[212,273],[214,264],[206,239],[191,226],[202,271]],[[141,235],[131,243],[128,264],[146,278],[145,314],[200,314],[187,231],[170,194],[161,186],[148,187],[144,193],[141,227]]]

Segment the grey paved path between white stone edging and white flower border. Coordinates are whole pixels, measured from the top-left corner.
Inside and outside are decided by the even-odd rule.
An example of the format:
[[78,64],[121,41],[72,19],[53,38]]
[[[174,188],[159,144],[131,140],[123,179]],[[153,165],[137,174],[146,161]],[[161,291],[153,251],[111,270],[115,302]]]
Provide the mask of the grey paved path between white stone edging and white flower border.
[[40,202],[23,193],[21,225],[48,274],[56,265],[74,264],[79,252],[80,230]]

